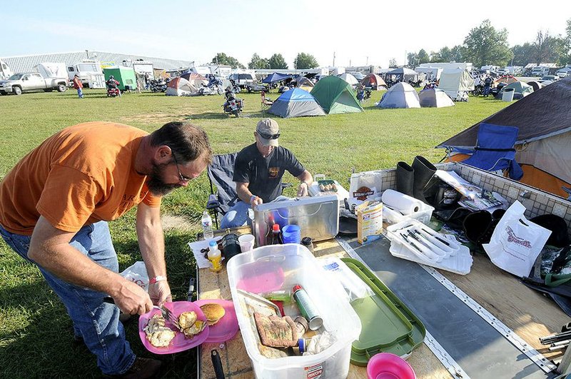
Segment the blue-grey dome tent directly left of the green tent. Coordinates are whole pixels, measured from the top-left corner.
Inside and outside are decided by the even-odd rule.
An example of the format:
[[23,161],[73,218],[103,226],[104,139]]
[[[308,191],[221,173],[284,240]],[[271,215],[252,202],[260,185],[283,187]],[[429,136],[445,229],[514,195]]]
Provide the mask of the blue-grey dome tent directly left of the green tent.
[[268,112],[283,118],[325,116],[323,108],[315,98],[303,89],[285,91],[273,102]]

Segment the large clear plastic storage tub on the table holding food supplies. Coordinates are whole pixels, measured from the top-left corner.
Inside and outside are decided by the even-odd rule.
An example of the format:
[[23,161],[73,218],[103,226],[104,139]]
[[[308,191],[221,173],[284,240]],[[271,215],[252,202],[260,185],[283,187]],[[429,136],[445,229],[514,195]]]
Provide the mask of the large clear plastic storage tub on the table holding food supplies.
[[[227,270],[238,324],[256,378],[347,377],[351,344],[359,338],[360,320],[346,300],[343,286],[325,272],[307,248],[295,243],[262,246],[233,257]],[[241,295],[237,289],[290,290],[295,284],[305,288],[323,318],[323,328],[335,335],[335,343],[315,355],[266,358],[258,349],[258,332],[238,300]],[[284,311],[286,315],[298,313],[294,307],[285,307]]]

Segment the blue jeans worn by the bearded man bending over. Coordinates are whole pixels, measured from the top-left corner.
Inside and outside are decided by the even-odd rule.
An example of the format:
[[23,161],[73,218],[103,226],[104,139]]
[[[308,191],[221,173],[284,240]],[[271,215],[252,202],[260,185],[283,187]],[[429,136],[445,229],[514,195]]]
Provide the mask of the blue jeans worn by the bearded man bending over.
[[[16,253],[26,261],[36,264],[28,258],[31,236],[10,233],[1,225],[0,234]],[[117,254],[105,221],[84,226],[69,244],[98,265],[118,272]],[[101,372],[106,375],[125,373],[133,365],[136,355],[125,339],[125,330],[119,321],[119,309],[116,305],[103,303],[105,293],[67,283],[44,268],[38,268],[66,306],[74,323],[75,335],[82,337],[87,348],[97,356],[97,365]]]

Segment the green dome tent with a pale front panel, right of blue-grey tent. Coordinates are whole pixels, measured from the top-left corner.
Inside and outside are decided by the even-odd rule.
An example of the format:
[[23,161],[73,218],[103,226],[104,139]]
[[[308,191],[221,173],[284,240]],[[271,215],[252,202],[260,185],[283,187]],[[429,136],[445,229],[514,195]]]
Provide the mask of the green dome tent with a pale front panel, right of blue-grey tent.
[[337,76],[325,76],[319,79],[311,94],[325,113],[363,112],[350,84]]

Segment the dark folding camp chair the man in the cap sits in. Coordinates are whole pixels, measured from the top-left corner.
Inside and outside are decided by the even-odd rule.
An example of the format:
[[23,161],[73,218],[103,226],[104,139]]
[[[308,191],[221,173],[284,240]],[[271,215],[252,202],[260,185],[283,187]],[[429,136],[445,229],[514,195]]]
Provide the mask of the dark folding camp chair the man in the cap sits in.
[[[224,216],[228,209],[240,201],[236,193],[236,182],[233,181],[236,156],[238,153],[213,156],[212,163],[207,168],[211,194],[208,196],[206,209],[213,213],[216,229],[218,229],[218,216]],[[290,186],[291,183],[282,183],[281,190]],[[216,187],[216,193],[214,187]]]

